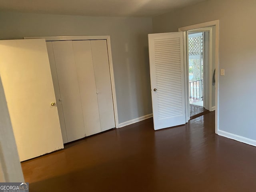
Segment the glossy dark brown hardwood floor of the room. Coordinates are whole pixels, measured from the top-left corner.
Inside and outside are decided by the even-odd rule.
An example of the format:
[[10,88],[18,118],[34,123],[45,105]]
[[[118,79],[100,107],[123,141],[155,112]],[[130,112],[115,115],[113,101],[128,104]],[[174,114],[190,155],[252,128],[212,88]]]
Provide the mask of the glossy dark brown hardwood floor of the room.
[[30,192],[255,192],[256,148],[214,133],[214,112],[154,131],[152,118],[22,163]]

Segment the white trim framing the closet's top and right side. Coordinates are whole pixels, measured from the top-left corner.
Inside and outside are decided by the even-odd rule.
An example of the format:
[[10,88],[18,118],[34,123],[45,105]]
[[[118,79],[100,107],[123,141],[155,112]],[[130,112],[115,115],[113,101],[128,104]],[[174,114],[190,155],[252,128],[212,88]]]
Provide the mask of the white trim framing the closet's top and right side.
[[106,40],[107,48],[108,48],[108,63],[109,63],[109,70],[110,70],[110,81],[111,81],[111,88],[112,88],[115,124],[116,124],[116,128],[119,128],[117,102],[116,102],[116,87],[115,87],[115,80],[114,80],[114,69],[113,69],[113,61],[112,61],[110,36],[43,36],[43,37],[24,37],[24,39],[45,39],[46,41]]

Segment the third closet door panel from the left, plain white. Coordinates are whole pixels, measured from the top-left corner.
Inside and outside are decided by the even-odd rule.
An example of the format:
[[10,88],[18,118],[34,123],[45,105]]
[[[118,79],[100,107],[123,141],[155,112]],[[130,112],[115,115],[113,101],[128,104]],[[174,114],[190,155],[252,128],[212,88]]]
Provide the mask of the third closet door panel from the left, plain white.
[[86,136],[101,132],[90,40],[73,41]]

